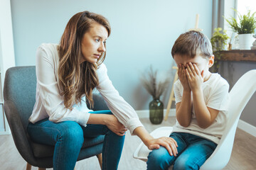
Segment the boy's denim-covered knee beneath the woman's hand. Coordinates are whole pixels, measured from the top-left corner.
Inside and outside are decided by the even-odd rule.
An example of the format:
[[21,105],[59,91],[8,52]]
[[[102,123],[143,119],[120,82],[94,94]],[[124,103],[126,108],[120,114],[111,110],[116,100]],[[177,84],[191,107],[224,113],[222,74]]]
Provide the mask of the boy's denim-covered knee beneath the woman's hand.
[[149,153],[146,164],[147,169],[167,169],[171,166],[171,156],[164,147],[160,147]]

